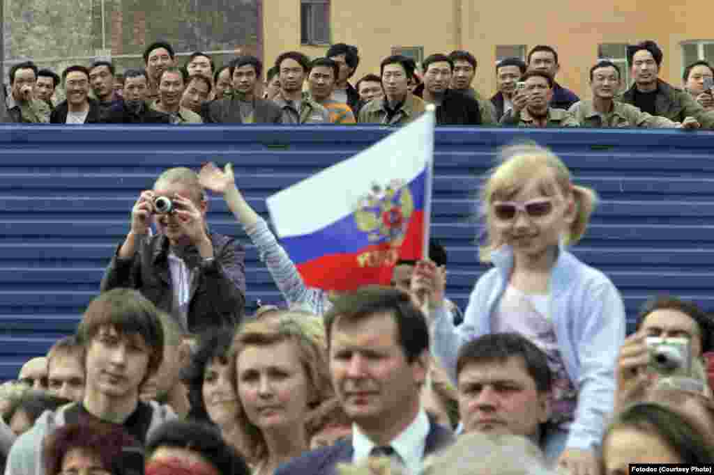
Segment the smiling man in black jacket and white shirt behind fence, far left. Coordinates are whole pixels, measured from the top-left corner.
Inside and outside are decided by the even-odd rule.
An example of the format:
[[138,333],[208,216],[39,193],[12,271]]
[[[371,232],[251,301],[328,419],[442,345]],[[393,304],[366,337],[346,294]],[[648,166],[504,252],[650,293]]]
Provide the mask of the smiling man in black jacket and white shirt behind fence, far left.
[[67,98],[52,111],[51,123],[99,123],[99,103],[89,98],[89,69],[69,66],[62,72],[62,83]]

